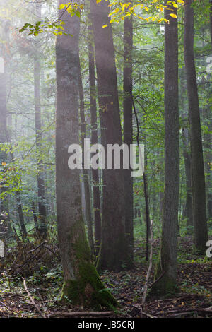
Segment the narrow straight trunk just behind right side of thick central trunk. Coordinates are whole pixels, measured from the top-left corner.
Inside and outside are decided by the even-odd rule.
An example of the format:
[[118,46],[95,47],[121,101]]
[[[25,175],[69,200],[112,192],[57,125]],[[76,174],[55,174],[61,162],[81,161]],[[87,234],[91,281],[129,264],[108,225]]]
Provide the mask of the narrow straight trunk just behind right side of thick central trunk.
[[[124,19],[124,143],[129,146],[133,143],[132,132],[132,47],[133,47],[133,23],[132,17]],[[129,150],[130,151],[130,150]],[[129,152],[130,155],[130,152]],[[125,206],[125,230],[127,251],[133,263],[134,256],[134,223],[133,223],[133,177],[131,168],[124,170],[124,206]]]

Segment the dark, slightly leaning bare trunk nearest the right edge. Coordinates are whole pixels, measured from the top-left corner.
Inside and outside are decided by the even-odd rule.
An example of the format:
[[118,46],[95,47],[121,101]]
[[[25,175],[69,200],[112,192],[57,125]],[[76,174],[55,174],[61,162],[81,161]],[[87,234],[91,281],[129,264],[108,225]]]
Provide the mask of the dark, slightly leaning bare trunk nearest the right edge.
[[184,6],[184,62],[187,75],[189,124],[192,149],[194,249],[197,253],[204,254],[208,239],[206,223],[206,188],[201,141],[199,98],[194,64],[194,9],[191,4],[192,0],[188,0]]

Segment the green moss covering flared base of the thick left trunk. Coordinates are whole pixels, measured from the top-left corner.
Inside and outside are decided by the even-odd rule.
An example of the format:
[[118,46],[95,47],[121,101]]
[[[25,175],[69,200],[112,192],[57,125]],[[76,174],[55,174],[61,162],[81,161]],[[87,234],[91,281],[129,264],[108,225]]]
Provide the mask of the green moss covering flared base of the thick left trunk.
[[[70,256],[73,257],[73,274],[75,279],[65,280],[61,299],[73,304],[101,309],[114,309],[117,301],[105,289],[90,257],[90,248],[84,232],[84,225],[76,225],[77,232],[72,229],[70,235]],[[74,236],[76,235],[76,237]]]

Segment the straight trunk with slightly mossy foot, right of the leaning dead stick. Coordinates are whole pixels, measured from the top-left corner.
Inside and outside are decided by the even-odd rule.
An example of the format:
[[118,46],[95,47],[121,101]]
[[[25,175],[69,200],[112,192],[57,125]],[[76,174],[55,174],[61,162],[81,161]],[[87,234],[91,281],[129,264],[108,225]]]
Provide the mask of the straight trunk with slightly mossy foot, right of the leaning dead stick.
[[175,290],[177,277],[177,215],[179,201],[179,110],[177,9],[165,9],[165,191],[158,269],[152,292],[165,296]]

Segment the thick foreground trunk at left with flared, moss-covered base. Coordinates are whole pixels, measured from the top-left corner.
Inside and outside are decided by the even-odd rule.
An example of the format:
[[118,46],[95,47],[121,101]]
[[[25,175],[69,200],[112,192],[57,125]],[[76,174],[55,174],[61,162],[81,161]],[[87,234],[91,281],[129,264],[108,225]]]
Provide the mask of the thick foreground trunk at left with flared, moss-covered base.
[[[63,4],[59,0],[59,5]],[[59,10],[59,16],[62,11]],[[56,196],[57,226],[61,263],[64,272],[62,299],[73,304],[100,308],[116,305],[105,290],[90,260],[90,249],[82,218],[80,170],[68,167],[68,147],[79,143],[78,134],[78,37],[80,20],[63,14],[65,32],[57,37],[57,124]]]

